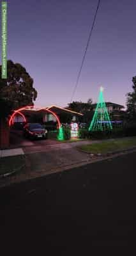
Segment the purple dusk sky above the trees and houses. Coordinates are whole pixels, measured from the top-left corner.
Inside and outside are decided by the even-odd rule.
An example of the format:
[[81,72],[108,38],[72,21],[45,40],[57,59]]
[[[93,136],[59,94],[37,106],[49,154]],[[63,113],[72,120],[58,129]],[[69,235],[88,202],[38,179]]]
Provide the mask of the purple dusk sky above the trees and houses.
[[[97,0],[8,1],[8,60],[34,79],[36,106],[66,106],[84,54]],[[136,76],[136,1],[102,0],[73,100],[125,105]]]

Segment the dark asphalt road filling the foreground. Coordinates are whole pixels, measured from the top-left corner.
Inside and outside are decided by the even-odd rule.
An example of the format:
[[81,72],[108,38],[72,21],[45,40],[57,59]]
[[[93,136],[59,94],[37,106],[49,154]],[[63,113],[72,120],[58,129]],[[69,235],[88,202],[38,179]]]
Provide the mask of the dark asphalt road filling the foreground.
[[90,255],[93,246],[131,246],[135,157],[1,188],[4,253]]

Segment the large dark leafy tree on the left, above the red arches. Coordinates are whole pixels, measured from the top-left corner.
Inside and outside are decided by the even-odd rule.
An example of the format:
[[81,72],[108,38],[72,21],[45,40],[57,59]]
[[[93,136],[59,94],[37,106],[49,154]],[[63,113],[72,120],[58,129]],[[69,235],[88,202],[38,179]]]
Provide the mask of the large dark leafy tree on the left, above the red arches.
[[20,63],[7,61],[7,79],[1,79],[0,66],[0,95],[1,99],[12,103],[12,108],[33,105],[33,100],[37,97],[33,78]]

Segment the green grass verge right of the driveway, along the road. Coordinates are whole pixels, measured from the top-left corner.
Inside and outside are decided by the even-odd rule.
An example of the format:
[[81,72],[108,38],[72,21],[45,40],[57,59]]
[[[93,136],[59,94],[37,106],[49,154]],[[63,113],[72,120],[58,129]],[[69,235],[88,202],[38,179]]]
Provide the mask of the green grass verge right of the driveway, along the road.
[[123,150],[127,148],[136,147],[136,137],[135,138],[123,138],[123,139],[113,139],[110,141],[103,141],[101,143],[94,143],[89,145],[82,145],[78,148],[90,152],[92,154],[106,154],[108,152],[113,152],[116,150]]

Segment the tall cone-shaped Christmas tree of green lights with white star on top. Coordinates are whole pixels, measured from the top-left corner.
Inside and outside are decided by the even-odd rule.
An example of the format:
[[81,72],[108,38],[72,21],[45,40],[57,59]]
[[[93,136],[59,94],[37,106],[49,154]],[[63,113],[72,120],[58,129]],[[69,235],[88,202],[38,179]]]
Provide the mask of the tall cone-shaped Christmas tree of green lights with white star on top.
[[100,87],[100,94],[98,97],[98,103],[93,115],[93,119],[89,126],[89,131],[105,131],[112,130],[112,124],[110,122],[109,113],[103,98],[103,87]]

